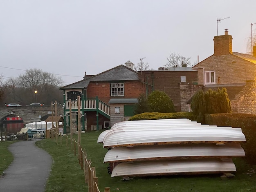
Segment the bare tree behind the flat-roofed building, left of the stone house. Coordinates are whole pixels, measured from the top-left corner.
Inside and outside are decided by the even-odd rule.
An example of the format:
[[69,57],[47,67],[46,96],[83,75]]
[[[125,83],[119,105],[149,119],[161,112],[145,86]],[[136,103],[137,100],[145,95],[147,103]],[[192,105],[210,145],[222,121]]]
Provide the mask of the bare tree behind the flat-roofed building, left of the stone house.
[[170,56],[167,57],[168,63],[164,67],[188,67],[190,66],[190,59],[190,57],[186,58],[180,54],[170,53]]

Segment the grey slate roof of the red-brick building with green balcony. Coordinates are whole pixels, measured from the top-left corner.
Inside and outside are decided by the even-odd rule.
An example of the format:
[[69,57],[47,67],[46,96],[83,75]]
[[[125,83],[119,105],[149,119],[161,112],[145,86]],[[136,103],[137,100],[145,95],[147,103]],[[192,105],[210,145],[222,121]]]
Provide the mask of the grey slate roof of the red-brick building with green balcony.
[[79,89],[88,87],[90,81],[139,80],[138,73],[124,65],[119,65],[85,80],[72,83],[60,89]]

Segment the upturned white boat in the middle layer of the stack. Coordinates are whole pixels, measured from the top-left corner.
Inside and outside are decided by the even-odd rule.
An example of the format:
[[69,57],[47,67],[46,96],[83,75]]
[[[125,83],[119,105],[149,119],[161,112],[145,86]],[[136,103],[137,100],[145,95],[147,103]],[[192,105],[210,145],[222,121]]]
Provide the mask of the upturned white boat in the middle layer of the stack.
[[237,156],[245,156],[240,143],[227,143],[222,146],[215,144],[153,145],[112,148],[106,153],[104,163]]

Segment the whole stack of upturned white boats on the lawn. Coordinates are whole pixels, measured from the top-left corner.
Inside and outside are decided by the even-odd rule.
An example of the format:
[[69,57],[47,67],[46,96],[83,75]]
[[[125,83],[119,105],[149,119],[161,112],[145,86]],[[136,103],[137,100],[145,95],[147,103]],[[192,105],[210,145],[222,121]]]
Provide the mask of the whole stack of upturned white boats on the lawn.
[[188,119],[124,121],[98,137],[110,149],[112,177],[236,172],[232,157],[245,156],[243,142],[241,128]]

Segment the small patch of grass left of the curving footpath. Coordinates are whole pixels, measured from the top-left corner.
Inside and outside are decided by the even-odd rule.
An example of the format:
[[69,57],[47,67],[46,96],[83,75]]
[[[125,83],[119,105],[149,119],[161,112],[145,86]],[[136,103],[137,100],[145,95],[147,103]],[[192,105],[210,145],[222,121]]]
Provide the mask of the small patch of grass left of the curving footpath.
[[9,152],[8,147],[15,141],[7,141],[0,143],[0,175],[7,169],[13,161],[13,155]]

